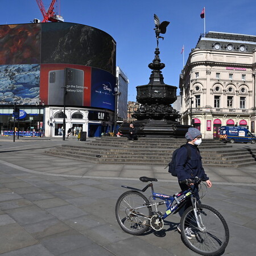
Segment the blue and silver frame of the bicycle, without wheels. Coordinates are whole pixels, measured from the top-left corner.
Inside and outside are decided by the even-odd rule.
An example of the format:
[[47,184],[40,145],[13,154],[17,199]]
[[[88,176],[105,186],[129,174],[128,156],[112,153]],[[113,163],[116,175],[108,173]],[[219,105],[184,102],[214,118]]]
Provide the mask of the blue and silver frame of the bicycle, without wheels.
[[[135,191],[139,191],[139,192],[145,192],[147,190],[147,188],[151,187],[151,193],[152,193],[153,200],[162,199],[164,201],[160,201],[158,203],[151,203],[149,205],[145,205],[143,207],[138,207],[136,209],[140,209],[140,208],[144,208],[144,207],[155,207],[155,209],[156,209],[155,211],[156,211],[156,213],[158,213],[158,206],[166,204],[166,206],[167,206],[166,211],[164,212],[164,214],[162,214],[162,216],[159,216],[162,218],[162,220],[164,220],[171,213],[175,214],[184,205],[185,201],[188,200],[188,197],[191,197],[192,205],[193,205],[194,209],[196,207],[196,198],[193,196],[194,189],[191,189],[191,188],[187,189],[186,191],[181,191],[179,193],[176,193],[173,196],[170,196],[170,195],[165,195],[163,193],[156,193],[154,191],[152,181],[148,181],[148,184],[143,189],[127,187],[125,185],[122,185],[122,187],[127,188],[127,189],[132,189]],[[174,201],[175,201],[175,204],[172,205],[174,203]],[[195,215],[197,216],[197,214],[195,214]]]

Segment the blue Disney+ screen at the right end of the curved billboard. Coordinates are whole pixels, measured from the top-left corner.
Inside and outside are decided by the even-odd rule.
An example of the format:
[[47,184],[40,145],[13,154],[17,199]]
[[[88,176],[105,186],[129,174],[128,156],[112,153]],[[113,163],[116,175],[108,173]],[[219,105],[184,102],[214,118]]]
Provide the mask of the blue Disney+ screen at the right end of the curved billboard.
[[92,68],[91,106],[115,109],[115,76],[102,69]]

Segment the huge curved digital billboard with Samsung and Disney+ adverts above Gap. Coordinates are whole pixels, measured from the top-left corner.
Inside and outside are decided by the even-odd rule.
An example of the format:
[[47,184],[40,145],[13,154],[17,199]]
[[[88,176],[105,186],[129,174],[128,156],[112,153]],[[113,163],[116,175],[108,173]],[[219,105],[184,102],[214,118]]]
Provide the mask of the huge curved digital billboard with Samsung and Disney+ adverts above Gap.
[[[114,110],[115,42],[76,23],[0,26],[0,104]],[[66,94],[64,97],[64,87]]]

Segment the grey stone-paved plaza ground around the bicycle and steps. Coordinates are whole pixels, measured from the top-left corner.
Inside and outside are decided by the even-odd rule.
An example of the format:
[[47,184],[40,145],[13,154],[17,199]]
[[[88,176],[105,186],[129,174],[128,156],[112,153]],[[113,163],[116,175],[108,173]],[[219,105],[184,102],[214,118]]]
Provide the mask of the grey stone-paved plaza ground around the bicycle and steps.
[[[0,137],[0,254],[197,255],[180,239],[178,214],[164,221],[161,232],[150,230],[142,236],[123,232],[115,219],[115,203],[126,191],[121,185],[143,188],[140,176],[156,177],[157,192],[179,191],[165,166],[93,164],[43,154],[61,144],[83,143],[87,142],[57,138],[13,142]],[[224,255],[254,255],[256,164],[205,167],[205,171],[213,187],[202,202],[219,210],[229,225]]]

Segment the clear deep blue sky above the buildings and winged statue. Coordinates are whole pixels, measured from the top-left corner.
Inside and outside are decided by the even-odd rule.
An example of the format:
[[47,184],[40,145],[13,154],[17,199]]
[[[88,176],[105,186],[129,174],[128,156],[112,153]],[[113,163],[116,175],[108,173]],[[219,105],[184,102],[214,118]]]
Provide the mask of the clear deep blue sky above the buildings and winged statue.
[[[58,0],[60,1],[60,0]],[[42,19],[36,0],[0,0],[0,24],[30,23]],[[47,7],[51,0],[43,0]],[[60,14],[65,22],[99,28],[117,42],[117,65],[129,78],[128,100],[136,100],[136,86],[148,84],[156,47],[154,14],[160,22],[170,21],[164,40],[159,39],[164,82],[179,86],[185,61],[195,48],[204,19],[200,13],[205,6],[206,31],[256,35],[255,0],[61,0]],[[177,93],[179,94],[179,92]]]

